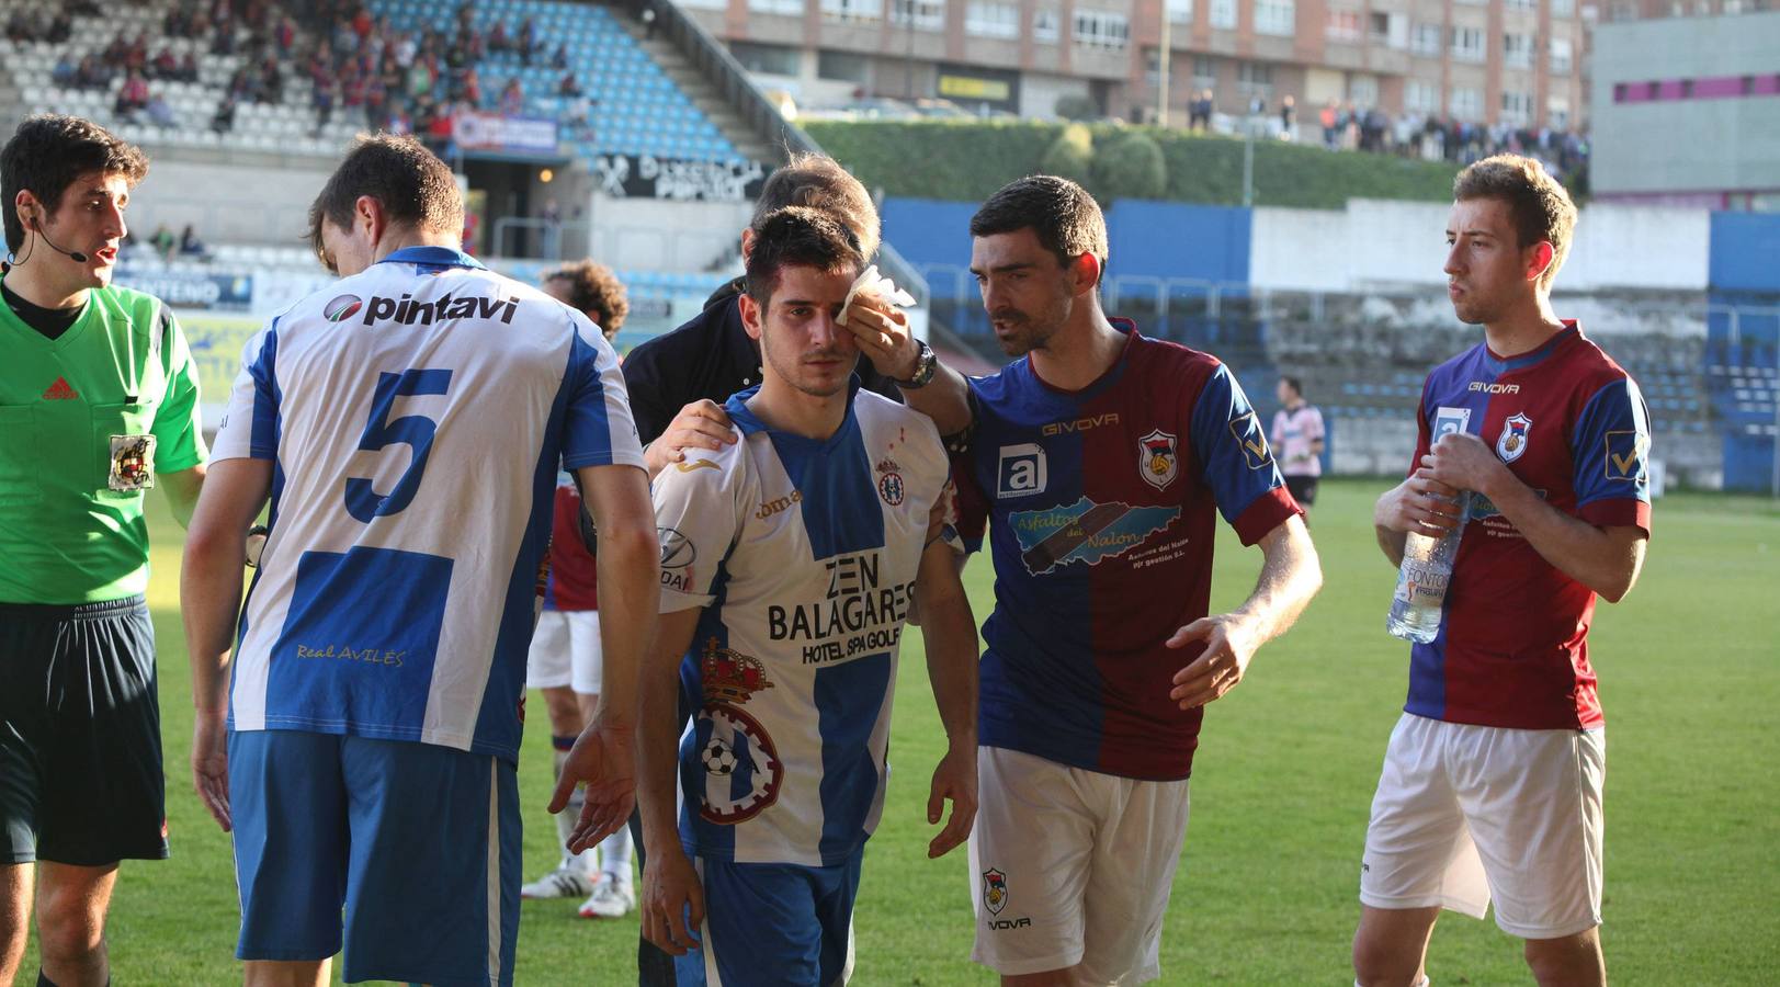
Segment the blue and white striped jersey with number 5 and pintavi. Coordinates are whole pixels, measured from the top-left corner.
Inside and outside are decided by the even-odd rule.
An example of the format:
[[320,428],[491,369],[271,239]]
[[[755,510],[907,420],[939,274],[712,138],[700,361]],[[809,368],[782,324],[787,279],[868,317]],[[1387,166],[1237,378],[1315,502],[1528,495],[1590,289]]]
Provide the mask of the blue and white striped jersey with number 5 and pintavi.
[[233,729],[518,758],[557,462],[643,466],[580,313],[445,247],[397,251],[247,341],[214,459],[271,459]]

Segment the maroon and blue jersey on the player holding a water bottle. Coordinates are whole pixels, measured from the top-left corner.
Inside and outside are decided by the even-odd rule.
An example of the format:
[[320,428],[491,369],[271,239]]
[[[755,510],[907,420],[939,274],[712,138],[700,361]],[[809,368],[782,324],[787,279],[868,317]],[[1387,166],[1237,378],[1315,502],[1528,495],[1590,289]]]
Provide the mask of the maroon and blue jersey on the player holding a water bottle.
[[[1645,398],[1575,322],[1517,357],[1479,343],[1440,365],[1422,386],[1419,425],[1412,473],[1440,436],[1470,432],[1558,510],[1650,534]],[[1492,727],[1598,727],[1593,615],[1595,590],[1474,496],[1440,633],[1412,653],[1404,710]]]

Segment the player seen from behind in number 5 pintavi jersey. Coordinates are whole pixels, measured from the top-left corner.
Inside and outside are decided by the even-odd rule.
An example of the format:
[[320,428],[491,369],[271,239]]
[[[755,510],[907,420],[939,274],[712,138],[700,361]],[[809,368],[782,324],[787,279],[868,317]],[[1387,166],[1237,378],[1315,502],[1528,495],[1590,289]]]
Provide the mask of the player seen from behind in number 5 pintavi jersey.
[[659,551],[643,453],[598,329],[457,249],[456,180],[418,142],[361,139],[310,222],[347,277],[244,349],[182,574],[194,781],[237,832],[239,955],[249,983],[326,983],[344,907],[349,982],[511,983],[550,491],[559,461],[580,475],[611,606],[603,706],[554,798],[589,782],[586,841],[632,806]]

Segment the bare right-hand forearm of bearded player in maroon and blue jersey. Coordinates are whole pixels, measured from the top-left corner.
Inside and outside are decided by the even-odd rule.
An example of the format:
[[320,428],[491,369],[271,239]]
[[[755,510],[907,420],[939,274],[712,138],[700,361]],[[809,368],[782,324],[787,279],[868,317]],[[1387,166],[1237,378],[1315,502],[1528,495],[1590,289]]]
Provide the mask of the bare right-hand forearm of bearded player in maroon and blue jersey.
[[1205,642],[1205,651],[1175,672],[1175,688],[1168,692],[1182,710],[1203,706],[1235,688],[1255,651],[1290,630],[1323,589],[1323,566],[1303,518],[1294,514],[1262,535],[1260,551],[1260,578],[1242,606],[1200,617],[1168,638],[1168,647]]

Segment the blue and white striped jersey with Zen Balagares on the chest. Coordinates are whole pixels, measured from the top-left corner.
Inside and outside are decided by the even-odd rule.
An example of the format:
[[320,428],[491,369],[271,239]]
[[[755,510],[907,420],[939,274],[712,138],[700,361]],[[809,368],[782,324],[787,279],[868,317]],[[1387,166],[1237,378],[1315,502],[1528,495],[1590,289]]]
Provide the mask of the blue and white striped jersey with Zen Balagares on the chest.
[[858,391],[828,441],[726,411],[740,441],[655,480],[664,614],[703,606],[680,667],[680,838],[833,866],[883,811],[897,647],[947,480],[933,421]]

